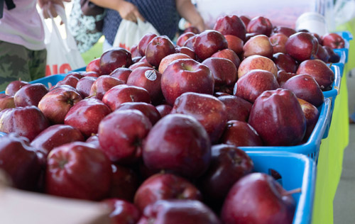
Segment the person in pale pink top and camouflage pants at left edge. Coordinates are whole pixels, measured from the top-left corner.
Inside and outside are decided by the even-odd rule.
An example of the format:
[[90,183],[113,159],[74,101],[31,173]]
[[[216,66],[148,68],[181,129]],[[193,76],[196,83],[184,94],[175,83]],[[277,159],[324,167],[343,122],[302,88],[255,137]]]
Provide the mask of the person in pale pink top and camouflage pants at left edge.
[[31,81],[45,76],[47,52],[43,17],[58,16],[55,4],[70,0],[0,0],[0,91],[16,79]]

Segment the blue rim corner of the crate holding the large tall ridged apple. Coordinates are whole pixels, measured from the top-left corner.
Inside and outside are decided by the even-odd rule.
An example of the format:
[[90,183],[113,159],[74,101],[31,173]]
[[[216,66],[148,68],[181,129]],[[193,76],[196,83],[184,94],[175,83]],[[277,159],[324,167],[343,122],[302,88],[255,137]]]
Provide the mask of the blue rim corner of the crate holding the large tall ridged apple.
[[272,151],[272,152],[294,152],[302,155],[307,155],[317,162],[319,153],[320,153],[320,142],[324,136],[325,131],[329,127],[329,118],[330,118],[330,108],[331,101],[330,99],[324,99],[324,103],[320,108],[320,118],[318,118],[315,129],[313,130],[310,138],[302,145],[293,145],[293,146],[248,146],[240,147],[245,151]]

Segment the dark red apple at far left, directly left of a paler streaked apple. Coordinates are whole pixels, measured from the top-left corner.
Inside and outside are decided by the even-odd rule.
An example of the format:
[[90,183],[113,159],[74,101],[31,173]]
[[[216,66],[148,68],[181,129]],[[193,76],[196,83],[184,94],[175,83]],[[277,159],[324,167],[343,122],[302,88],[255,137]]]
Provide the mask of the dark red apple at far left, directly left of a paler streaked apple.
[[16,106],[38,106],[40,99],[48,93],[48,88],[41,83],[27,84],[18,89],[13,101]]

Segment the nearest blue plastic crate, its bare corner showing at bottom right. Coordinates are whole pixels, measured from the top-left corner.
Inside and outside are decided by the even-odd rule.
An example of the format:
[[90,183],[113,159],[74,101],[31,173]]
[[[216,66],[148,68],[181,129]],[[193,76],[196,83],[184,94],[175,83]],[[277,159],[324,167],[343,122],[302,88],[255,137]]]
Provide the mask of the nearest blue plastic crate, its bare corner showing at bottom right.
[[305,155],[290,152],[247,153],[257,172],[270,174],[273,169],[281,175],[281,184],[287,191],[301,188],[300,193],[293,194],[297,202],[293,224],[310,224],[315,197],[315,162]]

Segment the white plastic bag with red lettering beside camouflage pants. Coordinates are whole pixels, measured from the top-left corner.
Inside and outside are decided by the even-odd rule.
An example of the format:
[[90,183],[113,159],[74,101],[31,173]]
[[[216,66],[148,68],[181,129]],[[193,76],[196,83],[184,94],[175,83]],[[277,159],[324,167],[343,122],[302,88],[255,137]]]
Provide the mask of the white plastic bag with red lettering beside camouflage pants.
[[49,19],[52,22],[51,31],[43,20],[45,47],[47,49],[45,76],[67,73],[85,66],[85,62],[77,49],[77,44],[67,28],[67,16],[64,9],[60,6],[56,6],[55,9],[64,23],[66,38],[63,39],[62,35],[60,35],[58,26],[53,18]]

